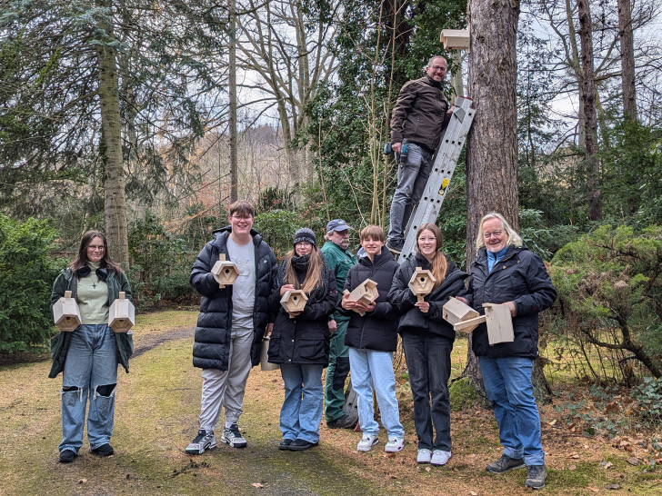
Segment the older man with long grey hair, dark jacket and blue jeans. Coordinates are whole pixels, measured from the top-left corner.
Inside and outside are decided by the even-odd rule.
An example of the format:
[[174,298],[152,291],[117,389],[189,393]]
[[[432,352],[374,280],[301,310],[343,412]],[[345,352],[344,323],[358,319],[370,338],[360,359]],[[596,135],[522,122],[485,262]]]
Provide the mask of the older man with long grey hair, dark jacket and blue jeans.
[[469,293],[460,299],[478,312],[484,312],[483,303],[507,304],[515,333],[513,342],[490,345],[485,323],[473,332],[473,350],[504,447],[486,471],[526,466],[525,485],[540,489],[547,468],[531,373],[538,356],[538,313],[555,302],[557,291],[540,257],[527,249],[500,213],[487,213],[480,220],[476,249]]

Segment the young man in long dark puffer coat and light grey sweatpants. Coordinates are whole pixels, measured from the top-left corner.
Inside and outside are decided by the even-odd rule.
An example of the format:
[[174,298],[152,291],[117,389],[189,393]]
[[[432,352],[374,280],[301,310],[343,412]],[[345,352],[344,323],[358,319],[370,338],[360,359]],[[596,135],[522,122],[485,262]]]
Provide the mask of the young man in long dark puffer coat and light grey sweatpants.
[[[201,295],[193,365],[203,369],[203,383],[200,428],[186,447],[188,454],[216,447],[214,430],[222,406],[226,425],[221,441],[246,448],[237,421],[248,373],[260,362],[263,337],[267,327],[270,331],[273,326],[269,297],[277,270],[276,255],[252,229],[255,218],[250,203],[232,203],[227,216],[230,224],[214,232],[191,271],[191,284]],[[236,265],[239,275],[232,285],[219,284],[212,273],[219,258]]]

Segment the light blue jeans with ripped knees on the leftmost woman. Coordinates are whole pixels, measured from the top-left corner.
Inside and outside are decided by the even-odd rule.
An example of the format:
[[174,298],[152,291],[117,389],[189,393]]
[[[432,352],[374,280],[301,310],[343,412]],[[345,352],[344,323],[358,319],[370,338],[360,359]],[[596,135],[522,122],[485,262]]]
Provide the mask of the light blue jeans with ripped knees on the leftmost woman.
[[[76,453],[83,445],[87,412],[87,439],[94,450],[110,441],[115,420],[117,347],[115,332],[107,324],[78,326],[66,353],[62,378],[62,442],[60,452]],[[99,387],[101,386],[100,394]]]

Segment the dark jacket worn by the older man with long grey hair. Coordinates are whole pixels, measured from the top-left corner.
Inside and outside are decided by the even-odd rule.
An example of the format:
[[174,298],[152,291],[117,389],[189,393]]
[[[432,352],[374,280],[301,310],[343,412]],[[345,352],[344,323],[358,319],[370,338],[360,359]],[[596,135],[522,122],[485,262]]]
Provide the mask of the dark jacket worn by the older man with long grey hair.
[[536,358],[538,313],[552,306],[556,299],[557,290],[545,264],[526,246],[510,246],[491,273],[487,271],[486,250],[481,248],[476,261],[471,264],[467,302],[481,314],[485,313],[483,303],[513,302],[517,313],[513,318],[514,342],[490,346],[486,324],[482,323],[474,330],[472,347],[476,356]]

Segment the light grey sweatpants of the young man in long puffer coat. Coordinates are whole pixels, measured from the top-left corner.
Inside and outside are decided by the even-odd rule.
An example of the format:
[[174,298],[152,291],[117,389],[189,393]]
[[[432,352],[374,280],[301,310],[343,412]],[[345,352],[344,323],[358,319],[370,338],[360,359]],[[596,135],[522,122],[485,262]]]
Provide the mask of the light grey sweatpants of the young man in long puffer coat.
[[252,329],[233,329],[230,341],[230,358],[226,371],[204,369],[202,371],[202,408],[200,429],[214,431],[221,414],[226,412],[226,422],[235,423],[242,414],[244,392],[248,372],[251,370]]

